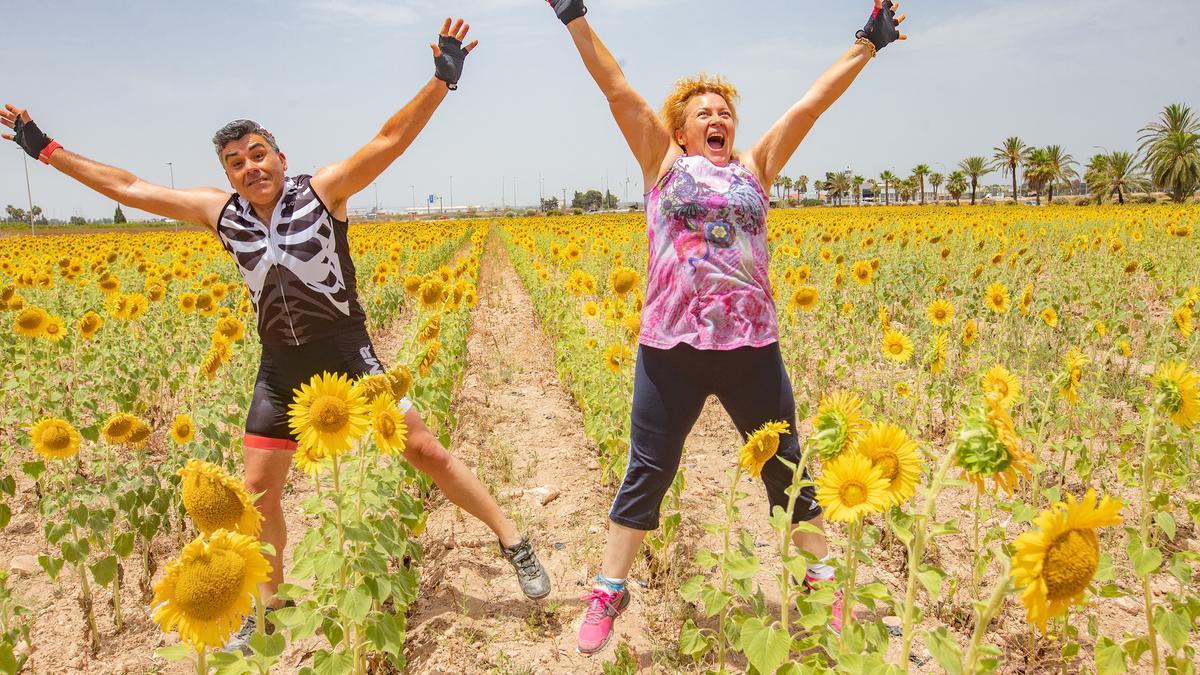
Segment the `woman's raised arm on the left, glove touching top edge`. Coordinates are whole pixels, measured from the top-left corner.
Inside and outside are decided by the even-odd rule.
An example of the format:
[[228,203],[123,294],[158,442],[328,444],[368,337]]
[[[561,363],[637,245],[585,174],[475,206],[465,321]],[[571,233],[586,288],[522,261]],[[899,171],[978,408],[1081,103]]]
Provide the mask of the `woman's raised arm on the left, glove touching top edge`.
[[671,150],[671,133],[662,126],[654,108],[629,84],[625,73],[617,65],[617,59],[612,58],[588,20],[583,18],[587,7],[582,0],[550,0],[550,5],[566,25],[583,65],[608,100],[612,117],[642,167],[644,185],[649,190],[658,180],[662,162]]

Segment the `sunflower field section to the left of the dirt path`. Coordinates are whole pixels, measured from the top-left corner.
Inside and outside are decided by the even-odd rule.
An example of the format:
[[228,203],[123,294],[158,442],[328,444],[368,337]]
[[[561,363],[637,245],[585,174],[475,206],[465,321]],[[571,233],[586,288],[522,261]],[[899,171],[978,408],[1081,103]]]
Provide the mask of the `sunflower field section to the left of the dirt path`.
[[[398,461],[395,400],[408,395],[449,443],[484,234],[464,222],[350,233],[368,328],[395,333],[379,345],[394,366],[305,388],[346,399],[350,424],[298,453],[318,526],[288,572],[312,581],[284,585],[289,607],[272,621],[292,640],[323,631],[319,665],[362,671],[368,653],[402,663],[430,484]],[[101,614],[120,633],[154,608],[181,638],[157,656],[265,673],[282,632],[257,637],[250,658],[205,659],[254,611],[269,573],[253,496],[232,478],[258,346],[227,253],[208,233],[19,237],[0,250],[0,297],[10,328],[0,331],[0,536],[14,512],[42,532],[37,566],[78,592],[88,652],[100,647]],[[31,643],[46,645],[30,637],[7,575],[0,610],[0,673],[18,671]]]

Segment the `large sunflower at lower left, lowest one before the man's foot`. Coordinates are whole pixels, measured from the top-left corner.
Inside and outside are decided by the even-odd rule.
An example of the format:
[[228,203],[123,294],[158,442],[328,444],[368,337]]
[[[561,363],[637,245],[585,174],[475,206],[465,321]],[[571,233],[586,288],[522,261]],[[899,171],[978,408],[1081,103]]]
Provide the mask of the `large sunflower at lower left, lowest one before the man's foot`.
[[155,584],[154,621],[192,649],[220,647],[250,614],[271,574],[258,539],[217,530],[184,546]]

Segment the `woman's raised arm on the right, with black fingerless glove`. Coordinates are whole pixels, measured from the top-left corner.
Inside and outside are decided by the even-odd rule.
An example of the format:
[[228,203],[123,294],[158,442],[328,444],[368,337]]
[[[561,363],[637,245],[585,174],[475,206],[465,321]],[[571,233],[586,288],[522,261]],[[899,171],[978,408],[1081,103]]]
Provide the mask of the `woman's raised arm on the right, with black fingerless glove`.
[[899,2],[875,0],[875,10],[866,26],[858,31],[856,42],[829,70],[812,84],[803,98],[796,102],[779,121],[750,149],[748,165],[762,185],[770,185],[800,141],[817,119],[850,89],[851,83],[863,72],[876,52],[896,40],[907,40],[898,28],[905,16],[895,16]]

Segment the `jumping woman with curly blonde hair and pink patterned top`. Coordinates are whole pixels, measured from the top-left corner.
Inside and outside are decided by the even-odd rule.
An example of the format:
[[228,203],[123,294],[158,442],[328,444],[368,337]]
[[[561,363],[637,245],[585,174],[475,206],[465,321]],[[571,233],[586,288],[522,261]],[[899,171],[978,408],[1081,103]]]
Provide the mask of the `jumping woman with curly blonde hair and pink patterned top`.
[[[629,468],[608,514],[608,539],[580,626],[578,649],[608,644],[613,622],[629,607],[625,578],[646,533],[659,526],[659,504],[674,478],[683,443],[715,394],[748,436],[766,422],[796,429],[796,402],[779,351],[775,304],[767,274],[767,193],[817,118],[854,82],[877,50],[905,36],[890,0],[875,11],[857,41],[744,156],[733,150],[737,91],[721,78],[676,83],[661,115],[630,86],[616,59],[588,25],[582,0],[547,0],[566,25],[588,73],[600,86],[630,150],[642,167],[649,274],[634,377]],[[800,459],[796,435],[780,440],[779,456]],[[772,459],[762,471],[772,507],[787,508],[792,472]],[[811,486],[796,503],[793,522],[823,528]],[[797,546],[821,562],[808,566],[809,585],[833,579],[823,534],[800,530]],[[839,595],[830,620],[841,629]]]

